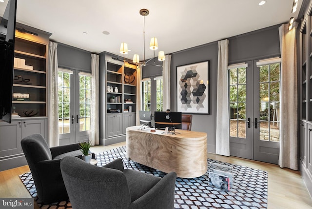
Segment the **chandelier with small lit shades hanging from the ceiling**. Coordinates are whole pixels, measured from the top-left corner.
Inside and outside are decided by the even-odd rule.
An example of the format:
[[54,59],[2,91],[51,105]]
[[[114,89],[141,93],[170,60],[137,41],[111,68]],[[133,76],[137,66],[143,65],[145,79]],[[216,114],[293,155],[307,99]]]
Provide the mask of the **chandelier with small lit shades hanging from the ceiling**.
[[[143,62],[140,62],[138,54],[133,55],[133,61],[132,61],[133,63],[136,63],[136,64],[139,64],[139,63],[143,64],[143,66],[145,66],[146,63],[148,63],[150,60],[153,59],[153,58],[151,58],[150,60],[145,62],[145,16],[148,16],[148,14],[149,14],[148,9],[141,9],[140,10],[140,15],[143,16]],[[154,63],[155,63],[155,50],[158,49],[158,42],[157,42],[156,37],[151,38],[150,49],[154,51]],[[125,56],[125,54],[128,54],[128,44],[124,43],[124,42],[121,43],[119,52],[121,54],[123,54],[123,57]],[[158,52],[158,61],[164,61],[164,60],[165,60],[164,51],[159,51]]]

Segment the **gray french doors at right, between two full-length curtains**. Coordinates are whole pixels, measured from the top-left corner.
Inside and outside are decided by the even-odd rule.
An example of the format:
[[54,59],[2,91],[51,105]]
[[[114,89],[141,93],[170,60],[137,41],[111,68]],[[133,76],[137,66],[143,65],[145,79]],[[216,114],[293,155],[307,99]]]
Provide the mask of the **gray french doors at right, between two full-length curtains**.
[[280,62],[229,66],[230,155],[278,164]]

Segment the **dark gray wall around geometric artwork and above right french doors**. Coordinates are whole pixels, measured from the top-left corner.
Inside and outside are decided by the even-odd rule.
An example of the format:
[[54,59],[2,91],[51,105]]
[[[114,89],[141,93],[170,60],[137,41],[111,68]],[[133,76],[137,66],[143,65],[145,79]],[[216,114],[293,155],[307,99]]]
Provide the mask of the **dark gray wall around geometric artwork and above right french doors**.
[[[280,56],[278,35],[279,26],[280,25],[275,25],[228,38],[229,63],[241,63],[250,60]],[[176,67],[179,65],[209,60],[210,114],[194,114],[192,130],[207,132],[208,152],[215,153],[218,42],[212,42],[173,53],[171,58],[171,109],[173,111],[176,111],[177,109]]]

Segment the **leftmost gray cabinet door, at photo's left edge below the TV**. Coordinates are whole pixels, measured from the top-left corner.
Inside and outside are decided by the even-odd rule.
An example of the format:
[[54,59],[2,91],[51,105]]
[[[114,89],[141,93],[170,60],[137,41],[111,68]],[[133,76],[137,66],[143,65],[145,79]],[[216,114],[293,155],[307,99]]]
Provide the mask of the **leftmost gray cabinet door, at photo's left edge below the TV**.
[[21,127],[21,121],[0,122],[0,158],[22,153]]

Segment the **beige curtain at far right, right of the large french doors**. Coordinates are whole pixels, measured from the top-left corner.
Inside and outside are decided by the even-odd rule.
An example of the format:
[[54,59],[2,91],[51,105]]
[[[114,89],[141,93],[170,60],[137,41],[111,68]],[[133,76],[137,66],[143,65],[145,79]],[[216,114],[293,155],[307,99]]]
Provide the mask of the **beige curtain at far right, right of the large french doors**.
[[[296,26],[296,25],[295,25]],[[281,48],[280,89],[280,167],[298,169],[297,140],[297,53],[296,29],[288,31],[288,24],[278,28]]]

